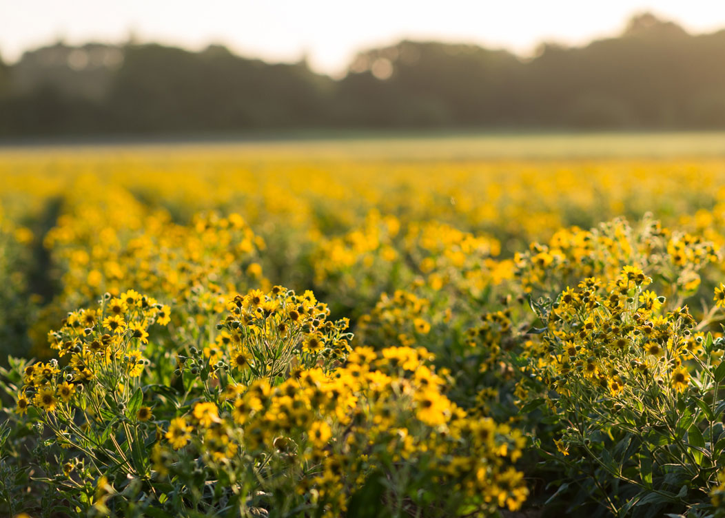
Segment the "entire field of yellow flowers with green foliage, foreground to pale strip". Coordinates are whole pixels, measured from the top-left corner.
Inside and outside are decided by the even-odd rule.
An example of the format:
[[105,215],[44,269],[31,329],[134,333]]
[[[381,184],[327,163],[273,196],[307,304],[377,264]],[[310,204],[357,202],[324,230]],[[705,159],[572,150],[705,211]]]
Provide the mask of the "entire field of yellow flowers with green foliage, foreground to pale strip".
[[0,152],[0,514],[725,516],[725,162]]

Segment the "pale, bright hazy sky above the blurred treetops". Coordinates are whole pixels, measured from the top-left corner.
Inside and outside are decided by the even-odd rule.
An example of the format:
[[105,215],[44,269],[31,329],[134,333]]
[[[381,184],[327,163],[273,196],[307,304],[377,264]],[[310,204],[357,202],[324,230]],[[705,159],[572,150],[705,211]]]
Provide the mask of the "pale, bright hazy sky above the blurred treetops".
[[583,43],[621,31],[649,10],[692,32],[725,28],[722,0],[0,0],[0,55],[63,38],[162,41],[190,49],[224,43],[245,56],[339,73],[356,51],[401,38],[505,47]]

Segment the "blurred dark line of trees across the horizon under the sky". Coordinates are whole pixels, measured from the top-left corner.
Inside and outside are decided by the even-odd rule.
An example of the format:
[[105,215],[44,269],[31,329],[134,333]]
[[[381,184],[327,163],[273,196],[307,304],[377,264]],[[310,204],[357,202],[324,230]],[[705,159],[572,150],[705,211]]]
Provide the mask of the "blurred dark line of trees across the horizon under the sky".
[[534,57],[437,42],[361,52],[334,80],[223,46],[57,43],[0,61],[0,135],[231,134],[310,128],[725,128],[725,30],[652,14]]

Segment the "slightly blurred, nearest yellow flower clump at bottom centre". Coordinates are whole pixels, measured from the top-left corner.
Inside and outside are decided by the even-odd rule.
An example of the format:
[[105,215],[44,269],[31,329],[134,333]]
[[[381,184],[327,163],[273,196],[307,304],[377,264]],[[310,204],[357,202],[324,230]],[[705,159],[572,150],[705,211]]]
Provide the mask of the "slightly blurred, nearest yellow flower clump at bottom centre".
[[[244,495],[247,505],[276,514],[314,504],[339,516],[361,486],[381,480],[378,498],[394,510],[518,509],[528,490],[510,463],[523,435],[468,417],[442,393],[429,356],[361,347],[331,372],[298,368],[278,385],[259,379],[241,391],[230,382],[222,397],[170,422],[156,469],[187,478],[188,455],[204,459],[208,477],[254,466],[260,485]],[[245,489],[229,488],[229,497]]]

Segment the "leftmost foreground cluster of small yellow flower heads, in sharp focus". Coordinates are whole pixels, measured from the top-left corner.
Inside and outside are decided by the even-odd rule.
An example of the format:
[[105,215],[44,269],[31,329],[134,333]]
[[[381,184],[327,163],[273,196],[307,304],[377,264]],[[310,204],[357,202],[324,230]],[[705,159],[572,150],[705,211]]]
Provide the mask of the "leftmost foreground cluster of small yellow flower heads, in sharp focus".
[[[78,410],[85,426],[91,427],[96,422],[93,416],[107,406],[123,409],[149,364],[144,357],[148,328],[154,323],[166,325],[169,313],[169,306],[133,290],[118,298],[107,294],[98,309],[69,313],[62,327],[48,334],[51,348],[67,362],[60,367],[57,359],[51,359],[25,367],[17,412],[24,414],[33,407],[45,412],[41,415],[46,422],[57,425],[49,414],[59,409],[70,425]],[[80,405],[76,397],[80,393],[93,405]],[[71,444],[73,436],[67,430],[54,426],[54,431],[61,443]]]

